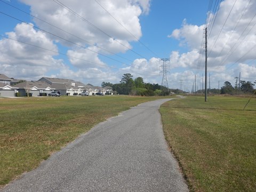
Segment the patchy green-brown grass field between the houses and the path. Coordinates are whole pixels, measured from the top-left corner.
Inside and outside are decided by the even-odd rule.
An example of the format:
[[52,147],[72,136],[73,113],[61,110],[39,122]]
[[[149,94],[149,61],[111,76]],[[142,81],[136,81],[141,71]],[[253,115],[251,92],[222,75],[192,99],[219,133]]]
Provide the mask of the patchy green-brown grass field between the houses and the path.
[[0,186],[37,167],[95,124],[159,97],[0,99]]

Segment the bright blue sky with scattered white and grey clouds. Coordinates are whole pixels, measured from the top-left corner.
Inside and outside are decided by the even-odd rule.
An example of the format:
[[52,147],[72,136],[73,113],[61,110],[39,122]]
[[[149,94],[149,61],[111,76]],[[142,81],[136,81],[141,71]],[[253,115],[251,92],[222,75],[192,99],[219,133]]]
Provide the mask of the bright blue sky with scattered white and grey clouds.
[[256,80],[254,1],[212,1],[210,10],[210,1],[204,0],[82,2],[1,0],[0,73],[27,80],[69,78],[93,85],[118,83],[123,74],[130,73],[161,84],[159,60],[168,58],[170,88],[180,88],[182,82],[182,89],[191,91],[196,75],[197,89],[201,89],[206,23],[211,88],[221,87],[225,81],[234,85],[240,72],[241,80]]

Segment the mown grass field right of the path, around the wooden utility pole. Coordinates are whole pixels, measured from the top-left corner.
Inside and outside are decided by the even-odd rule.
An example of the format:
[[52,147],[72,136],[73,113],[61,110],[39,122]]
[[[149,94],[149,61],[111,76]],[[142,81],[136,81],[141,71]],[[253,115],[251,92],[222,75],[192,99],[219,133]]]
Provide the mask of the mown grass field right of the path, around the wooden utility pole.
[[161,107],[191,191],[256,190],[256,98],[187,97]]

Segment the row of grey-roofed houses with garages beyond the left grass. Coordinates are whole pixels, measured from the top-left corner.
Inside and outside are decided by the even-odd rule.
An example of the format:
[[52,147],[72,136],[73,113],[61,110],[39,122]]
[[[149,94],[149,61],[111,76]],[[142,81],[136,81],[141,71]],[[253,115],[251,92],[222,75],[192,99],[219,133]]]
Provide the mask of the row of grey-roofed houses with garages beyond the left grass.
[[72,79],[42,77],[38,81],[22,81],[0,74],[0,97],[15,97],[17,95],[24,97],[27,94],[37,97],[47,95],[52,91],[60,91],[61,95],[79,95],[82,92],[87,92],[89,95],[113,94],[110,86],[85,85]]

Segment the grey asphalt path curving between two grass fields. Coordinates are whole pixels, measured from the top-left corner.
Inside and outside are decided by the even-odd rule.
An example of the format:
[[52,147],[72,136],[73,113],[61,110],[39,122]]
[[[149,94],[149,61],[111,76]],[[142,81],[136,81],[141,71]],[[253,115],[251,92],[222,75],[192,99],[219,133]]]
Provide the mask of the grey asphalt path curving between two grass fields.
[[167,148],[159,106],[108,119],[1,191],[189,191]]

